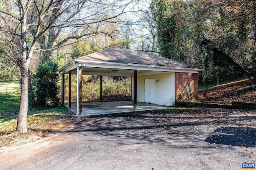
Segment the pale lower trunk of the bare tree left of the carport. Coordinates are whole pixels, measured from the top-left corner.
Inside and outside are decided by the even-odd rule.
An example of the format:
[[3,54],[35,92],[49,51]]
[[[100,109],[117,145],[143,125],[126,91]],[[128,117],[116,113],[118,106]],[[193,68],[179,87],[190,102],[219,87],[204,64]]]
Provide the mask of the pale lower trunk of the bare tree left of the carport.
[[19,133],[27,132],[27,114],[28,114],[28,69],[21,71],[21,91],[20,91],[20,109],[17,121],[16,131]]

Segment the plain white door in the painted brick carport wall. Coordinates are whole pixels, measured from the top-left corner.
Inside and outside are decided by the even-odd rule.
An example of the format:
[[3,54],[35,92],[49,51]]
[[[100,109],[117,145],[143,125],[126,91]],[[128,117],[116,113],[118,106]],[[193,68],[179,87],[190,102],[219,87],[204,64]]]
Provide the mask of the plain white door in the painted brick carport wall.
[[156,104],[156,79],[145,79],[145,103]]

